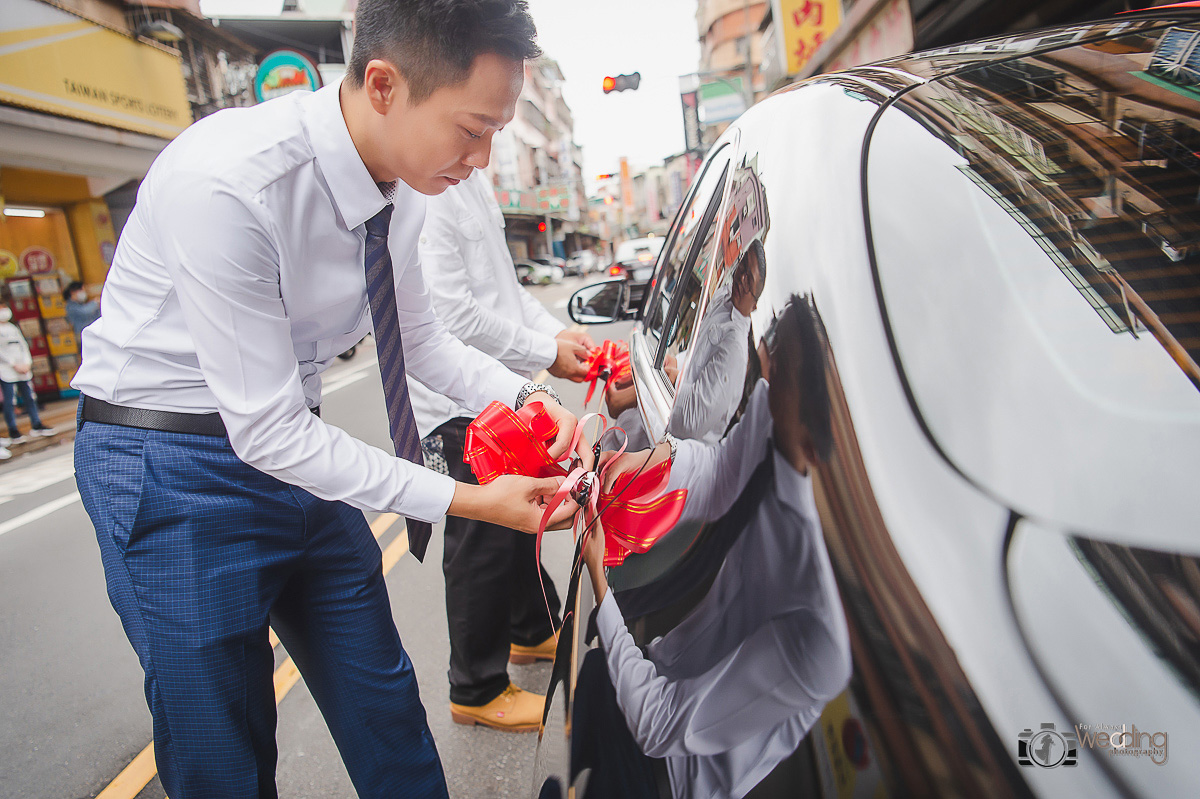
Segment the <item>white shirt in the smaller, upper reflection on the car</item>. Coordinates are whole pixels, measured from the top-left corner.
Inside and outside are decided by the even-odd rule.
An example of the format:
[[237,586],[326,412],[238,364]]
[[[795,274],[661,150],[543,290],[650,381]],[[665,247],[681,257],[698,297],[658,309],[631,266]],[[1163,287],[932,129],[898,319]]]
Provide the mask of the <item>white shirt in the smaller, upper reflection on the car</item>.
[[750,317],[733,307],[728,287],[718,289],[688,353],[667,429],[676,438],[715,444],[742,402],[749,361]]

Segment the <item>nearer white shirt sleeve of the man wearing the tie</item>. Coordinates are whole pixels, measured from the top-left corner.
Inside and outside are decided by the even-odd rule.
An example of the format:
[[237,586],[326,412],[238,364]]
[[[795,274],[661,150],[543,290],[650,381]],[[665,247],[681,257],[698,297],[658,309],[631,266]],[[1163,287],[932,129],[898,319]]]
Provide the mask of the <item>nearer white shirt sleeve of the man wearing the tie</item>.
[[[154,202],[158,250],[238,457],[322,499],[426,522],[442,518],[454,480],[370,446],[305,405],[278,256],[260,206],[198,172],[180,175]],[[509,374],[510,382],[480,383],[511,403],[523,380]]]

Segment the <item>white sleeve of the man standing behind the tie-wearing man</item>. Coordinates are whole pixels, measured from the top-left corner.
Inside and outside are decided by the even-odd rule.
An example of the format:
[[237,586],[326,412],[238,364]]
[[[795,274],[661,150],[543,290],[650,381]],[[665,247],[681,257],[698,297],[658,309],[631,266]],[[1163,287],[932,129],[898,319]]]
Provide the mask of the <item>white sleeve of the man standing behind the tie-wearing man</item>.
[[[452,203],[430,203],[421,229],[421,271],[433,307],[457,338],[493,356],[511,370],[536,372],[554,362],[553,336],[505,318],[479,304],[469,290],[464,241]],[[516,280],[514,272],[512,280]],[[431,386],[432,388],[432,386]]]

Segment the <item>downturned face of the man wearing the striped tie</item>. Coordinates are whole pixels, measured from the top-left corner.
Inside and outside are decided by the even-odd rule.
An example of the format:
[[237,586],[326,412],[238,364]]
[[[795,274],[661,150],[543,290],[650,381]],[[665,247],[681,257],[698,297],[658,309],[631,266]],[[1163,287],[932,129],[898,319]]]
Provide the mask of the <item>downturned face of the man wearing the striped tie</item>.
[[487,166],[492,137],[516,113],[521,61],[482,53],[470,76],[420,103],[395,102],[384,116],[380,154],[388,174],[422,194],[440,194]]

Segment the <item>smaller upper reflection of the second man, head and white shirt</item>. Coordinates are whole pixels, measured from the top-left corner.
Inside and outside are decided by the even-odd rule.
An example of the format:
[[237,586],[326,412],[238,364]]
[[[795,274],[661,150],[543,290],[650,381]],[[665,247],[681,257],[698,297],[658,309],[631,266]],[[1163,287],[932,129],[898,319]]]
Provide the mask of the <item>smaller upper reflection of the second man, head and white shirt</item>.
[[750,313],[758,306],[766,280],[767,254],[755,239],[733,270],[731,284],[713,295],[688,350],[689,365],[667,422],[673,435],[709,444],[721,440],[742,401]]

